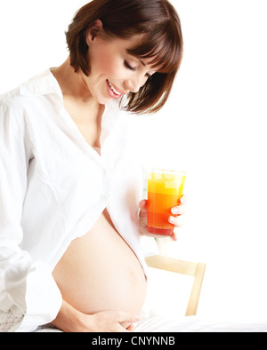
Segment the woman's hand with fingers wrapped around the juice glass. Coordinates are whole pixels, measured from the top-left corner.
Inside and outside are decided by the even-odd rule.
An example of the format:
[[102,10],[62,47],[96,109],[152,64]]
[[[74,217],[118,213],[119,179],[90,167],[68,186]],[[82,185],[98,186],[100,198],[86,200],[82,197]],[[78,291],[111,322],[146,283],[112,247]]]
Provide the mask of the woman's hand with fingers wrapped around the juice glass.
[[[186,202],[187,198],[185,195],[182,195],[180,198],[180,204],[172,208],[172,213],[174,216],[168,218],[169,222],[175,227],[182,227],[184,224],[184,214],[186,212]],[[166,237],[164,235],[152,235],[148,233],[148,201],[146,199],[142,200],[139,203],[139,231],[141,235],[147,235],[149,237]],[[170,237],[176,241],[177,237],[175,232],[170,235]]]

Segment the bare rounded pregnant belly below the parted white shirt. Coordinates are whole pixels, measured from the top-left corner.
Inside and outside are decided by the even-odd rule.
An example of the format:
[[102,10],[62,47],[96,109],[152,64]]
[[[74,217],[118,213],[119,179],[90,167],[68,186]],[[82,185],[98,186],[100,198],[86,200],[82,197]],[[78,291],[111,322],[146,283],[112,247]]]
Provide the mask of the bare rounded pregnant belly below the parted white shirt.
[[90,232],[70,243],[53,276],[62,298],[85,314],[142,309],[146,293],[142,266],[107,211]]

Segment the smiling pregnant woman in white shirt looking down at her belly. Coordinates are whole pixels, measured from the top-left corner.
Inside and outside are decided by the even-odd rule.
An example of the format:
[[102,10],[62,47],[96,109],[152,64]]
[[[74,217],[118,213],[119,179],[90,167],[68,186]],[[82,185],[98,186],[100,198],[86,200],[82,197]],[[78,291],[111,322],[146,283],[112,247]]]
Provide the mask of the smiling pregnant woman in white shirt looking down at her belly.
[[146,295],[134,114],[166,103],[180,21],[166,0],[93,0],[66,36],[60,67],[0,99],[0,329],[130,331]]

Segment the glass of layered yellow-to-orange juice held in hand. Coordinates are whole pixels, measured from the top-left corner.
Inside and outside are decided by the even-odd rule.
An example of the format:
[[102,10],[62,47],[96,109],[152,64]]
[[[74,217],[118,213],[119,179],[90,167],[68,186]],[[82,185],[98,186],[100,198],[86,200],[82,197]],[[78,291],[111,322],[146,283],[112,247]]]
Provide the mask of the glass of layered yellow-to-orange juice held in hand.
[[151,169],[148,173],[148,231],[154,235],[174,232],[168,218],[171,209],[179,205],[186,178],[184,171]]

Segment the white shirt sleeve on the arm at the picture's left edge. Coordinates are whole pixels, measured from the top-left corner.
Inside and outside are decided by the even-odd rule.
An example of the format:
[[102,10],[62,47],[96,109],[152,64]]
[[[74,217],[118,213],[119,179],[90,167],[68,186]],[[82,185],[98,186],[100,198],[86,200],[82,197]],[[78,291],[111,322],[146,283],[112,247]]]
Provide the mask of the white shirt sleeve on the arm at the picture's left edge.
[[27,123],[20,110],[0,100],[0,311],[23,314],[15,331],[36,330],[52,322],[61,308],[61,292],[51,267],[20,249],[23,201],[27,193]]

